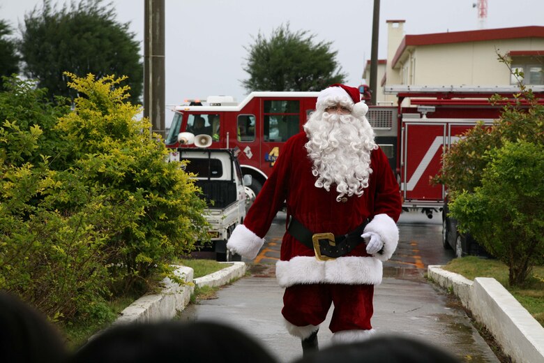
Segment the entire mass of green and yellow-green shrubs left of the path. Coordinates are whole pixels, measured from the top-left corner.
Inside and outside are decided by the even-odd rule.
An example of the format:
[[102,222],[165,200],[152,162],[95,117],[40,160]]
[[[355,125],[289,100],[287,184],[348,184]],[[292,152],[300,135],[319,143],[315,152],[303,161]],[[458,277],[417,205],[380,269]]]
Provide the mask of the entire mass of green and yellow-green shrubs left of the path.
[[123,78],[68,76],[71,111],[30,82],[0,94],[0,289],[54,320],[100,315],[207,238],[196,186]]

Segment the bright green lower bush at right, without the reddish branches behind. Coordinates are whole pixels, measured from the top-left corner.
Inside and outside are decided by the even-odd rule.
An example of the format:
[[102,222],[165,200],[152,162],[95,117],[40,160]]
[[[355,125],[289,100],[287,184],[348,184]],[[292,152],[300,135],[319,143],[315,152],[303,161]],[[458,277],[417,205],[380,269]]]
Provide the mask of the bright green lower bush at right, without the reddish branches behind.
[[506,142],[488,155],[482,186],[460,193],[451,213],[508,266],[510,285],[520,286],[544,255],[544,145]]

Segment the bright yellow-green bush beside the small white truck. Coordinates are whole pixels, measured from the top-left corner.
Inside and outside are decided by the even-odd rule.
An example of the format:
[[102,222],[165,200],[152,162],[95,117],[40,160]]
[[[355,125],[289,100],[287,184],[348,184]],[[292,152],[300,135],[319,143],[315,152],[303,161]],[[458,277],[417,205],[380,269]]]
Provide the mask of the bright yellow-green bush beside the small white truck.
[[108,241],[110,272],[122,289],[130,288],[157,268],[168,272],[172,256],[207,238],[205,204],[179,165],[165,163],[168,151],[158,135],[150,137],[149,121],[135,121],[139,107],[126,102],[128,87],[118,87],[123,77],[67,75],[80,97],[59,128],[74,168],[109,200],[130,202],[126,223]]

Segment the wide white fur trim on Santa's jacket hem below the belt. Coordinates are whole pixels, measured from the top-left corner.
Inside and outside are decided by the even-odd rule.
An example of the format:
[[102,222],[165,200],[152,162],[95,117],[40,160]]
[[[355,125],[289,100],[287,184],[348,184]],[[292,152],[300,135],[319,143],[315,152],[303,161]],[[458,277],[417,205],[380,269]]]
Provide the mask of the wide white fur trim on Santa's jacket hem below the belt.
[[275,264],[275,276],[282,288],[301,283],[345,283],[379,285],[383,267],[374,257],[339,257],[318,261],[315,257],[296,256]]

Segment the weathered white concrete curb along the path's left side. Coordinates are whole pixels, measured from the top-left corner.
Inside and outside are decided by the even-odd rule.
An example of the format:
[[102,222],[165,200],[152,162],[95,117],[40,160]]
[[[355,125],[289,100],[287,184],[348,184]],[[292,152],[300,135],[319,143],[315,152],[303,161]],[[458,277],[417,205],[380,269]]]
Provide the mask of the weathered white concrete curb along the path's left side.
[[164,279],[165,288],[160,294],[140,297],[121,311],[121,316],[114,321],[113,325],[172,319],[189,304],[195,286],[222,286],[245,274],[245,262],[224,263],[232,264],[232,266],[194,280],[192,268],[183,266],[176,268],[174,274],[188,284],[180,286],[168,278]]

